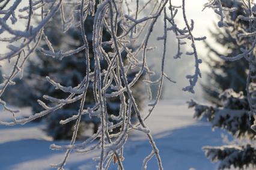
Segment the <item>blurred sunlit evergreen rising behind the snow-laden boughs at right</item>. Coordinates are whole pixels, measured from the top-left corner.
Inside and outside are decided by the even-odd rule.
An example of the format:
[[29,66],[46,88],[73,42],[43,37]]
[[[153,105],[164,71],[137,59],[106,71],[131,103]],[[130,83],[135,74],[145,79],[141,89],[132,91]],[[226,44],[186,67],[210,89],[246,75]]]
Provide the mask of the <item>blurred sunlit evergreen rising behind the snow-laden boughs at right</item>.
[[223,7],[236,7],[236,11],[227,13],[225,22],[228,27],[210,29],[210,34],[215,40],[216,44],[222,48],[214,48],[212,44],[204,41],[209,50],[207,54],[207,65],[209,65],[210,72],[207,73],[207,83],[203,83],[204,97],[215,104],[221,105],[218,100],[220,93],[226,89],[233,89],[234,92],[244,92],[246,87],[246,77],[248,75],[248,62],[245,59],[237,61],[227,61],[219,59],[219,56],[236,56],[240,53],[240,48],[245,48],[248,44],[248,38],[238,38],[237,34],[248,29],[248,22],[237,20],[237,16],[245,15],[243,10],[243,2],[236,1],[222,1]]

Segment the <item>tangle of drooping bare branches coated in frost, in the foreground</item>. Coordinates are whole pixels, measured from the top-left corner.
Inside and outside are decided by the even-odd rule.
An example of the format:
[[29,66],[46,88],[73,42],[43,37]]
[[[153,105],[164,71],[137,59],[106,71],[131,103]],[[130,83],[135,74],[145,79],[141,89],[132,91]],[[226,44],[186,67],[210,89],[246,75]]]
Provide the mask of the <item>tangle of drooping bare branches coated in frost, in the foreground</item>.
[[[156,157],[159,169],[163,169],[162,162],[160,159],[159,150],[145,124],[145,120],[150,116],[152,111],[159,101],[160,94],[163,87],[163,80],[167,80],[175,83],[174,80],[164,71],[167,39],[169,32],[173,32],[177,39],[177,54],[174,59],[182,57],[181,45],[189,44],[190,47],[186,52],[186,55],[194,56],[195,59],[195,71],[191,75],[186,75],[189,80],[188,86],[184,87],[183,90],[194,93],[194,87],[201,77],[200,63],[202,60],[198,56],[198,50],[196,41],[206,39],[206,37],[194,37],[194,21],[186,16],[185,0],[182,0],[180,6],[172,4],[171,0],[145,0],[145,1],[129,1],[129,0],[29,0],[29,3],[24,7],[20,7],[21,0],[15,1],[0,1],[0,41],[6,42],[8,52],[0,54],[0,60],[13,61],[13,68],[11,69],[10,75],[4,77],[4,81],[0,84],[0,98],[4,93],[7,86],[13,86],[14,77],[20,75],[22,78],[22,72],[25,68],[26,60],[32,57],[32,53],[35,50],[40,50],[45,57],[57,57],[59,62],[63,57],[72,57],[73,54],[83,51],[84,59],[86,60],[86,75],[81,83],[76,87],[64,87],[58,82],[55,82],[50,77],[46,77],[46,80],[52,84],[56,89],[62,90],[63,92],[69,93],[67,98],[53,98],[51,96],[44,95],[43,98],[52,102],[52,105],[46,105],[43,101],[38,100],[44,111],[35,113],[25,119],[16,119],[17,110],[13,110],[11,107],[0,99],[0,104],[5,110],[9,111],[13,116],[11,122],[0,122],[0,125],[17,125],[31,122],[38,117],[46,116],[55,110],[59,110],[64,105],[71,104],[72,102],[80,101],[80,107],[78,113],[73,115],[69,119],[61,120],[60,124],[69,123],[75,120],[75,128],[73,131],[73,137],[69,145],[55,145],[52,144],[50,148],[53,150],[66,150],[66,154],[62,162],[52,165],[58,169],[63,169],[67,162],[70,151],[75,150],[79,153],[90,153],[93,150],[100,149],[100,157],[96,160],[99,162],[97,169],[108,169],[111,160],[114,158],[117,160],[118,168],[124,169],[123,167],[123,148],[126,143],[128,132],[130,130],[139,130],[144,132],[148,137],[148,141],[151,144],[152,151],[145,157],[142,163],[142,169],[147,168],[147,162],[152,158]],[[252,11],[251,1],[245,1],[246,10],[248,10],[248,16],[239,16],[238,19],[245,20],[252,25],[254,20],[254,11]],[[19,8],[20,7],[20,8]],[[218,22],[219,27],[228,26],[225,23],[225,12],[236,10],[236,8],[225,8],[221,5],[221,0],[209,0],[204,8],[213,8],[215,13],[220,16]],[[135,9],[135,10],[132,10]],[[183,14],[184,28],[178,28],[177,16],[178,11]],[[17,16],[17,11],[19,15]],[[68,31],[72,27],[81,29],[81,37],[84,44],[81,47],[70,50],[70,51],[56,51],[53,48],[52,43],[48,40],[47,35],[44,34],[44,28],[49,20],[53,16],[59,14],[62,20],[63,32]],[[88,16],[94,16],[93,27],[93,57],[95,59],[94,70],[90,70],[90,57],[89,57],[89,45],[85,35],[84,22]],[[26,29],[22,31],[16,29],[11,25],[15,25],[17,20],[26,21]],[[35,22],[35,20],[37,22]],[[163,20],[162,37],[157,40],[162,41],[163,50],[161,61],[160,77],[156,81],[150,80],[150,75],[154,74],[153,71],[147,65],[147,54],[148,51],[153,48],[148,46],[150,37],[154,30],[157,20]],[[118,26],[121,27],[121,35],[117,34]],[[110,41],[102,41],[103,28],[111,35]],[[254,32],[255,31],[255,32]],[[9,36],[4,37],[3,33],[7,33]],[[239,37],[250,38],[251,44],[248,44],[247,49],[241,49],[242,53],[235,57],[222,57],[226,60],[237,60],[245,57],[249,62],[249,75],[248,75],[248,92],[249,83],[252,80],[253,73],[255,72],[255,56],[252,53],[256,44],[256,29],[253,26],[250,30],[245,30],[244,33],[239,34]],[[46,41],[49,50],[39,48],[38,44],[44,39]],[[112,52],[106,53],[103,45],[111,44]],[[139,44],[135,50],[129,50],[130,44]],[[123,51],[127,52],[127,58],[129,62],[124,63],[121,57]],[[108,63],[108,69],[102,70],[100,62]],[[133,68],[139,68],[138,74],[129,83],[127,81],[127,72]],[[146,116],[142,116],[141,111],[136,105],[136,101],[133,98],[131,87],[139,80],[141,75],[145,75],[144,83],[148,86],[148,98],[153,100],[148,106],[150,110]],[[93,107],[85,108],[85,98],[87,98],[88,84],[93,82],[94,84],[94,101]],[[115,83],[112,84],[112,82]],[[159,90],[155,99],[151,99],[150,86],[153,84],[159,84]],[[115,92],[107,93],[106,89],[111,87]],[[120,114],[119,116],[108,116],[106,109],[106,99],[120,97]],[[128,98],[128,99],[126,99]],[[251,97],[248,96],[248,100],[251,101]],[[250,107],[253,115],[255,115],[255,105],[250,102]],[[130,122],[131,112],[135,111],[138,123],[133,125]],[[76,134],[78,132],[79,122],[84,114],[90,114],[90,116],[100,117],[100,126],[97,133],[84,142],[76,143]],[[117,120],[118,123],[113,125],[109,122],[109,119]],[[120,132],[111,134],[112,129],[121,126]],[[97,138],[97,140],[96,140]],[[99,140],[98,140],[99,139]],[[93,142],[97,141],[97,142]],[[93,144],[92,144],[93,143]]]

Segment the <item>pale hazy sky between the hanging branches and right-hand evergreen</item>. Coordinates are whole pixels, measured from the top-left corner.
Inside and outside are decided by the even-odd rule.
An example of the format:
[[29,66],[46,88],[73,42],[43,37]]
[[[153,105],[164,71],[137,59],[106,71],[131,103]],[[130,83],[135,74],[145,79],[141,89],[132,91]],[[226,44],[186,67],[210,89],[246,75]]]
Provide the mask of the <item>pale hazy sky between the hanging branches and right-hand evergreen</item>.
[[[174,5],[181,5],[181,0],[172,0]],[[187,0],[186,1],[186,14],[187,14],[187,20],[190,21],[190,19],[193,19],[195,22],[194,25],[194,37],[207,37],[207,41],[214,43],[213,39],[210,38],[209,34],[209,28],[213,26],[213,24],[216,24],[216,20],[218,17],[216,17],[216,14],[212,9],[207,8],[206,10],[203,10],[203,4],[207,2],[206,0]],[[196,2],[196,3],[195,3]],[[180,9],[177,14],[176,18],[177,25],[180,28],[184,28],[184,22],[183,22],[183,14],[182,10]],[[159,54],[162,54],[162,42],[156,41],[157,37],[160,37],[162,35],[162,20],[159,20],[154,28],[154,32],[151,38],[152,44],[154,46],[157,46],[157,49],[155,51],[152,51],[149,54],[148,62],[154,63],[156,65],[156,70],[160,68],[160,57],[156,57]],[[203,60],[203,63],[200,65],[200,69],[203,72],[202,79],[200,81],[204,80],[206,78],[206,71],[209,70],[207,68],[206,64],[204,64],[204,61],[207,60],[207,49],[203,43],[203,41],[197,41],[197,50],[200,59]],[[164,92],[163,92],[163,98],[168,99],[190,99],[190,98],[197,98],[202,99],[202,90],[200,83],[198,82],[197,86],[195,87],[195,94],[191,94],[188,92],[183,92],[181,89],[182,87],[185,87],[189,84],[189,81],[185,78],[186,75],[194,74],[194,56],[186,56],[183,55],[181,59],[173,59],[172,56],[177,51],[177,40],[175,39],[175,36],[173,34],[168,34],[168,44],[167,44],[167,53],[166,53],[166,63],[165,63],[165,72],[169,75],[169,77],[173,78],[177,83],[172,84],[168,81],[165,82],[164,86]],[[191,47],[189,43],[187,45],[184,45],[183,49],[186,50],[189,49],[191,51]]]

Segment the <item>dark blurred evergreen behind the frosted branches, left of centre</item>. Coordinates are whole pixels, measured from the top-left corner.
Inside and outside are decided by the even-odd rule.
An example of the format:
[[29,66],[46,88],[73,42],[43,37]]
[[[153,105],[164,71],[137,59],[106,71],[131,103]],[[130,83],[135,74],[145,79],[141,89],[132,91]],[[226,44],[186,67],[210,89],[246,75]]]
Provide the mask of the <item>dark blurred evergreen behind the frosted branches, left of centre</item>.
[[[88,38],[88,43],[90,47],[90,69],[91,71],[94,70],[94,58],[93,58],[93,22],[94,17],[88,16],[87,20],[85,20],[85,35]],[[79,28],[70,28],[69,31],[66,33],[59,32],[59,29],[56,28],[60,27],[61,19],[56,18],[53,19],[47,25],[46,37],[47,39],[52,42],[52,45],[55,49],[67,49],[72,50],[83,45],[83,40],[81,37],[81,31]],[[121,34],[118,31],[118,34]],[[111,40],[111,35],[109,34],[106,29],[103,29],[103,36],[102,41],[109,41]],[[49,50],[47,46],[47,41],[44,40],[41,43],[41,48]],[[112,48],[110,45],[105,45],[103,47],[105,51],[111,53]],[[132,47],[130,48],[132,50]],[[50,102],[43,98],[43,95],[52,96],[53,98],[67,98],[68,94],[62,92],[61,90],[55,89],[49,81],[46,80],[46,76],[52,78],[55,82],[58,82],[62,86],[66,87],[76,87],[79,83],[81,83],[82,79],[85,77],[86,74],[86,60],[84,58],[84,51],[79,53],[73,54],[69,57],[64,57],[63,59],[59,59],[57,57],[53,58],[50,56],[45,56],[40,51],[36,53],[36,59],[29,60],[28,65],[26,66],[26,72],[23,75],[22,80],[17,80],[16,78],[16,87],[8,87],[7,94],[8,96],[17,93],[17,90],[22,89],[22,92],[19,93],[17,100],[10,101],[8,100],[8,96],[5,96],[5,99],[9,101],[11,104],[19,105],[20,107],[24,106],[31,106],[33,113],[39,113],[43,111],[43,108],[38,104],[37,99],[45,102],[47,105],[50,105]],[[123,60],[127,59],[127,53],[122,53]],[[105,60],[102,60],[101,63],[102,69],[108,69],[108,64]],[[129,83],[135,77],[136,68],[133,71],[127,72],[128,74],[128,81]],[[114,81],[112,82],[114,84]],[[87,91],[87,98],[85,101],[85,108],[93,107],[95,105],[94,101],[94,93],[93,92],[93,83],[89,84]],[[142,83],[138,81],[133,86],[133,93],[135,95],[136,102],[141,103],[143,98],[144,89],[142,88]],[[107,89],[107,93],[114,92],[113,89]],[[139,92],[139,93],[138,93]],[[140,95],[139,95],[140,94]],[[20,102],[22,101],[22,102]],[[120,111],[120,98],[108,98],[107,99],[107,109],[108,113],[113,114],[114,116],[118,116]],[[80,103],[74,102],[72,104],[65,105],[62,110],[57,110],[55,113],[50,114],[47,117],[43,117],[42,119],[46,118],[46,132],[52,136],[54,139],[70,139],[73,135],[73,126],[75,125],[75,120],[72,122],[66,123],[65,125],[60,125],[59,121],[65,120],[73,115],[77,114],[78,108]],[[40,119],[39,119],[40,120]],[[117,123],[115,120],[109,119],[114,124]],[[93,132],[96,133],[98,129],[98,124],[100,123],[99,117],[90,116],[85,114],[82,117],[81,123],[79,125],[78,135],[77,138],[84,138],[87,135],[87,130],[89,128],[93,128]],[[93,125],[93,127],[91,126]],[[116,128],[118,131],[118,128]],[[88,130],[89,131],[89,130]],[[91,131],[91,130],[90,130]],[[115,131],[115,130],[114,130]],[[115,132],[117,132],[115,131]],[[115,133],[113,132],[113,133]]]

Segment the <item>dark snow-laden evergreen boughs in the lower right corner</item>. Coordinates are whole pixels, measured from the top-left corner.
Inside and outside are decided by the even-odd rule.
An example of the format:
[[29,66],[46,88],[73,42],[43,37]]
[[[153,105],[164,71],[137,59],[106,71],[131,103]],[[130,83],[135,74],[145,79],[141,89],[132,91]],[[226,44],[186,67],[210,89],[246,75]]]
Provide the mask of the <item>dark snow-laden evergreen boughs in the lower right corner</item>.
[[[251,95],[255,96],[256,84],[251,84]],[[206,146],[203,150],[206,156],[213,162],[218,162],[218,169],[225,168],[256,168],[256,132],[253,125],[254,117],[251,117],[250,108],[246,96],[242,92],[236,93],[233,89],[225,90],[220,96],[219,101],[223,107],[212,107],[200,105],[191,100],[189,108],[195,109],[194,117],[207,119],[212,124],[212,128],[227,130],[233,135],[232,144],[220,147]],[[254,103],[256,102],[254,98]]]

